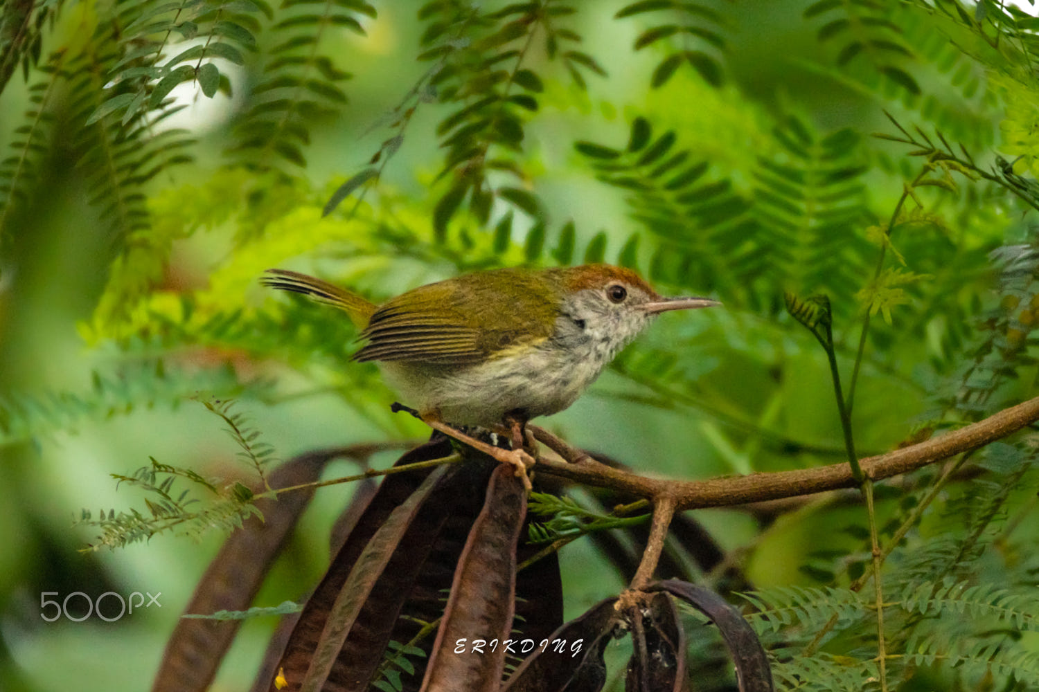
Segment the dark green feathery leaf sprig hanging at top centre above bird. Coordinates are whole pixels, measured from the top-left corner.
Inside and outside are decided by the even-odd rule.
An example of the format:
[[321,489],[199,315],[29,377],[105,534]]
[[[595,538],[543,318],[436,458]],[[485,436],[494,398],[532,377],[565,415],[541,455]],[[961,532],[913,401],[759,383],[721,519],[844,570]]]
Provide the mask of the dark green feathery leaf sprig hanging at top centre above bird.
[[[524,151],[525,122],[538,111],[544,90],[543,79],[527,65],[540,49],[549,60],[560,59],[582,87],[583,72],[605,75],[590,55],[567,48],[581,40],[565,25],[575,12],[570,4],[555,0],[488,11],[471,3],[436,0],[419,11],[426,22],[422,36],[426,50],[420,57],[435,61],[429,86],[439,103],[453,109],[436,127],[446,150],[437,177],[451,179],[433,210],[433,228],[439,237],[467,195],[470,211],[481,223],[490,218],[495,199],[534,220],[543,216],[517,159]],[[491,173],[514,183],[494,183],[488,179]]]

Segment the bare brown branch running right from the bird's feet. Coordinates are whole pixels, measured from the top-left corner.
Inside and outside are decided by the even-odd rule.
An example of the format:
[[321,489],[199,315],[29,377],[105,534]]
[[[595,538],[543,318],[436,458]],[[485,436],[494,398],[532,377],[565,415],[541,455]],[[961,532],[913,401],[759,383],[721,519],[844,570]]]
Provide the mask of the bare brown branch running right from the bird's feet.
[[[1039,396],[1004,409],[958,431],[884,454],[862,459],[862,470],[874,480],[889,478],[955,454],[984,447],[1036,420],[1039,420]],[[746,476],[709,480],[646,478],[600,464],[548,431],[533,425],[530,427],[538,441],[566,460],[559,462],[541,459],[535,467],[538,472],[589,486],[627,491],[639,497],[651,499],[670,497],[674,500],[677,510],[730,506],[857,487],[848,464],[832,464],[795,471],[752,473]]]

